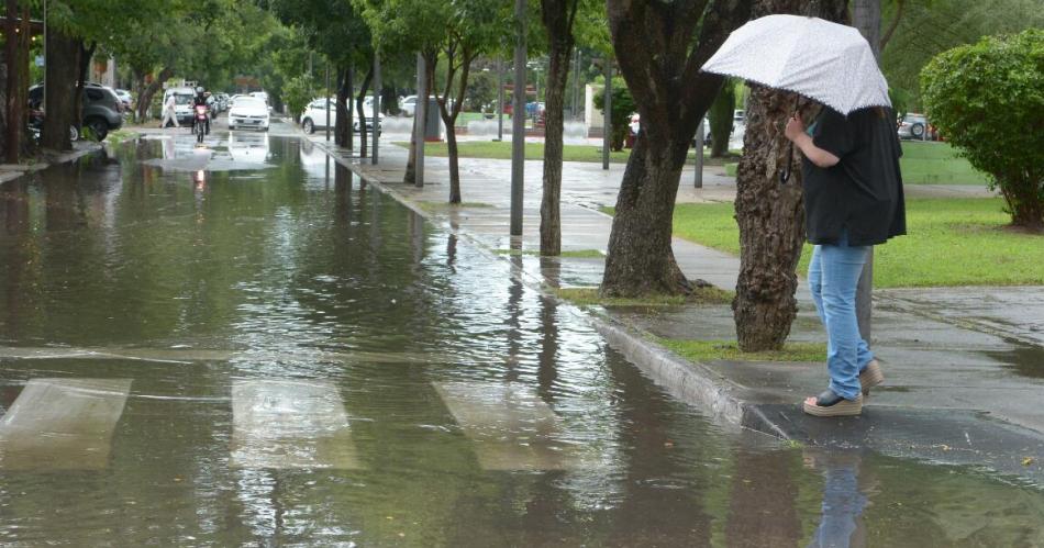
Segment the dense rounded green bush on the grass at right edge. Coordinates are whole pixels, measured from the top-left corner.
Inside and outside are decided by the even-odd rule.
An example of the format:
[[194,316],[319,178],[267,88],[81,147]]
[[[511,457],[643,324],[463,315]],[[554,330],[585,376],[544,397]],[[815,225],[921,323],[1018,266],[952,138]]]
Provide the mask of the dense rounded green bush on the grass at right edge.
[[1012,224],[1044,230],[1044,30],[991,36],[921,72],[928,115],[1000,188]]

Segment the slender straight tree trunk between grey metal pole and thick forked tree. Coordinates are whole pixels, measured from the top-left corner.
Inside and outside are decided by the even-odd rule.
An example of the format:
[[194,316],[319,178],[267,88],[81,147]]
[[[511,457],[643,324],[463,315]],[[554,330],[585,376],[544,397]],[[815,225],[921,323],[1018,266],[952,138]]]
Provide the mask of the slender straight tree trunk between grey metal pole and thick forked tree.
[[566,83],[573,53],[573,23],[578,0],[543,0],[541,16],[547,29],[549,59],[544,89],[544,194],[540,209],[541,255],[562,254],[562,137],[565,123]]

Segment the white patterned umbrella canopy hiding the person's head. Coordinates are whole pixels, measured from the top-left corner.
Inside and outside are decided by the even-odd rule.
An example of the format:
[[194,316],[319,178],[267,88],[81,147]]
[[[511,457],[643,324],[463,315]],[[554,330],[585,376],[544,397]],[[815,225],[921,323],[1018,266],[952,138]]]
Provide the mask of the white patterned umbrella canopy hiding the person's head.
[[819,18],[767,15],[733,31],[702,70],[814,99],[837,112],[891,107],[859,31]]

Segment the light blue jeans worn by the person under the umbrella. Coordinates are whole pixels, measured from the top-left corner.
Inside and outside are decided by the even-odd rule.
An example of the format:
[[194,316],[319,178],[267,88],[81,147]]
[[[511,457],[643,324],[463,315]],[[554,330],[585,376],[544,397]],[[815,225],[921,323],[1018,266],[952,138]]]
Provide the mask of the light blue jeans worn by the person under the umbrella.
[[830,389],[845,400],[859,395],[859,371],[874,359],[859,336],[855,292],[870,247],[849,247],[846,233],[837,245],[818,245],[809,264],[809,290],[815,312],[826,327],[826,370]]

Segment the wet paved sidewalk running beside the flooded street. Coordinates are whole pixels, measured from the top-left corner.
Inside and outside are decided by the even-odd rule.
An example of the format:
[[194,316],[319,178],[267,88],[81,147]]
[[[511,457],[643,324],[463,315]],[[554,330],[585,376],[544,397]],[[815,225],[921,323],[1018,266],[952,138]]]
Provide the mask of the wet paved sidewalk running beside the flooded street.
[[[319,136],[310,137],[327,147]],[[329,146],[364,179],[377,182],[407,205],[493,253],[509,255],[537,283],[576,287],[601,281],[603,259],[569,251],[604,253],[612,219],[598,211],[613,205],[623,165],[607,172],[592,164],[563,168],[563,250],[557,260],[536,256],[540,246],[542,165],[525,164],[524,234],[512,242],[510,163],[462,159],[464,205],[449,209],[445,158],[425,163],[425,187],[401,182],[407,150],[385,137],[380,165]],[[692,189],[692,171],[681,176],[679,201],[731,200],[734,181],[704,174]],[[908,195],[989,195],[977,187],[908,186]],[[511,251],[512,246],[521,246]],[[674,239],[689,278],[734,289],[737,257]],[[581,254],[589,256],[590,254]],[[807,290],[798,292],[800,314],[792,340],[825,339]],[[735,337],[729,306],[669,310],[595,310],[607,338],[680,398],[723,423],[802,443],[870,447],[884,452],[946,462],[981,463],[1022,476],[1044,476],[1044,288],[941,288],[875,292],[871,346],[886,381],[864,415],[848,420],[803,416],[799,402],[822,390],[823,364],[689,364],[648,343],[647,335],[682,339]]]

